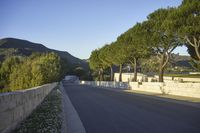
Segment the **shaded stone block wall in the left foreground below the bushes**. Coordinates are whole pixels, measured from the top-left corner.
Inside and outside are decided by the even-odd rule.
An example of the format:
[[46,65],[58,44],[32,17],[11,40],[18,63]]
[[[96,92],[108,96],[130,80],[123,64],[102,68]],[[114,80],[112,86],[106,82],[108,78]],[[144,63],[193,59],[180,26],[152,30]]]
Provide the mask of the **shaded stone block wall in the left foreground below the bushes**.
[[7,133],[23,121],[57,83],[0,94],[0,132]]

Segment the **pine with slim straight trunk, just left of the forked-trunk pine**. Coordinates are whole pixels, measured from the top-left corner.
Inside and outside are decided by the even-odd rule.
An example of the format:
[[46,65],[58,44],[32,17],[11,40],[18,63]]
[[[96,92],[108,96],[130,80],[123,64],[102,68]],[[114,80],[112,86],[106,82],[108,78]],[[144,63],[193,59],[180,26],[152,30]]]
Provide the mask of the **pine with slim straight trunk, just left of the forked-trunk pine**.
[[123,49],[123,60],[130,63],[134,68],[134,81],[137,81],[138,61],[152,54],[148,30],[145,28],[145,23],[137,23],[117,39],[117,42],[123,45],[121,47]]

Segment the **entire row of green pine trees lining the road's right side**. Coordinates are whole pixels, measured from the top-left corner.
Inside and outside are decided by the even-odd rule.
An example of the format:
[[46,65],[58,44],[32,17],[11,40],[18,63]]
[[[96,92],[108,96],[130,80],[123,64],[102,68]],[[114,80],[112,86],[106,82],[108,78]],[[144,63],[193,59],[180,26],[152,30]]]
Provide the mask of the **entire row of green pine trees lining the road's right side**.
[[[200,1],[183,0],[178,7],[160,8],[122,33],[115,42],[95,49],[89,65],[96,80],[105,80],[109,73],[113,81],[113,68],[119,68],[121,81],[124,65],[131,66],[133,81],[137,81],[138,66],[144,71],[156,72],[163,82],[164,72],[172,62],[172,52],[186,46],[196,71],[200,71]],[[179,69],[179,68],[177,68]],[[171,69],[173,71],[173,69]]]

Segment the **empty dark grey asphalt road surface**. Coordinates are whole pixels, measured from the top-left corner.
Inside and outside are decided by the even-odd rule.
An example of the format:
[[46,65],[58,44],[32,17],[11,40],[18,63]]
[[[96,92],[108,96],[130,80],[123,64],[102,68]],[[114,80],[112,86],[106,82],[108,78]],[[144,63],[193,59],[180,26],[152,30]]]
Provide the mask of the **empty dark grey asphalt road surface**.
[[87,133],[200,133],[200,109],[86,85],[64,85]]

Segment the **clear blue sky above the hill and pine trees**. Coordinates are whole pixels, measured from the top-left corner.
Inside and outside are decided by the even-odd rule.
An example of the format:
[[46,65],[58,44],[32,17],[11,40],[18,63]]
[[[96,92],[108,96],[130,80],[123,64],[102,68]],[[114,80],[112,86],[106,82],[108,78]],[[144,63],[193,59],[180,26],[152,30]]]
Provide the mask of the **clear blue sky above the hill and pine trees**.
[[[42,43],[86,59],[158,8],[182,0],[1,0],[0,38]],[[175,53],[187,54],[186,48]]]

